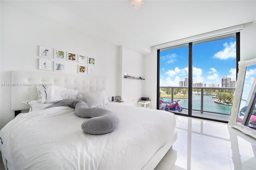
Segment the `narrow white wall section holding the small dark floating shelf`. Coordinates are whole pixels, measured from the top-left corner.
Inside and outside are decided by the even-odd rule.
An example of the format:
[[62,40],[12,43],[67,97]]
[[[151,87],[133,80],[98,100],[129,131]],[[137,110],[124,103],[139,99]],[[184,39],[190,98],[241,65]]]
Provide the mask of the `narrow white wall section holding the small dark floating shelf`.
[[[125,79],[124,73],[130,73],[134,77],[144,77],[144,55],[135,52],[127,47],[120,47],[120,60],[122,63],[122,98],[130,105],[137,106],[138,100],[143,97],[144,80]],[[147,77],[144,77],[147,79]]]

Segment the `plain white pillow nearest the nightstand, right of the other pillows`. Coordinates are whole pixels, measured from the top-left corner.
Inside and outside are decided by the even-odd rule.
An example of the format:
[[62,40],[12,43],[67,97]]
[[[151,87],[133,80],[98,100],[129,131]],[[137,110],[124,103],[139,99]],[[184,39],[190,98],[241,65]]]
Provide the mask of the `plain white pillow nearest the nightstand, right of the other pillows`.
[[109,103],[106,93],[103,90],[82,93],[82,95],[84,102],[87,103],[89,107],[98,107]]

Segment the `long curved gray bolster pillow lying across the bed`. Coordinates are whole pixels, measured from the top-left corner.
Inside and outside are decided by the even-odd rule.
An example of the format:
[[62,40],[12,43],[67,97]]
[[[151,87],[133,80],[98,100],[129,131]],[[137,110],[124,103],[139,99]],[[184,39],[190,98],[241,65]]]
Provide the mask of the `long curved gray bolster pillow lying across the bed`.
[[81,127],[88,134],[106,134],[116,130],[119,119],[113,111],[102,107],[88,107],[87,103],[81,100],[64,99],[54,102],[51,107],[68,106],[75,108],[76,115],[90,118],[82,123]]

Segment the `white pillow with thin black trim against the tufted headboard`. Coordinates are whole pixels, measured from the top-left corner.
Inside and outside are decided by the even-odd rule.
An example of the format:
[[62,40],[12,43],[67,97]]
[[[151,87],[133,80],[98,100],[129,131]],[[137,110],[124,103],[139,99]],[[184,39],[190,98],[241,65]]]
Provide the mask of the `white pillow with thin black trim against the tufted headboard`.
[[50,103],[63,99],[76,99],[78,90],[67,89],[59,86],[38,86],[38,103]]

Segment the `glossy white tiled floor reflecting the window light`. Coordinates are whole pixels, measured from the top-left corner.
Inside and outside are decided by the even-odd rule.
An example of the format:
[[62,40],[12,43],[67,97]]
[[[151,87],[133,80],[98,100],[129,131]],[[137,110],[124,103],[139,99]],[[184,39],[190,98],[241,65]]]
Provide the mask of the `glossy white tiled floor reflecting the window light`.
[[225,123],[176,115],[178,139],[155,170],[256,170],[256,139]]

